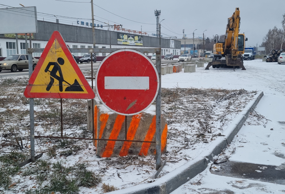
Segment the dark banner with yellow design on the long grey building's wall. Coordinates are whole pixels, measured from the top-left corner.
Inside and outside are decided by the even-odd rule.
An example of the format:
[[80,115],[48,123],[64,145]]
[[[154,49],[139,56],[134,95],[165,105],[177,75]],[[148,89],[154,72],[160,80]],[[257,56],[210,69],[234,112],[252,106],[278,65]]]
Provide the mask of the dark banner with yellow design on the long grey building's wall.
[[117,32],[118,45],[139,45],[143,46],[143,36]]

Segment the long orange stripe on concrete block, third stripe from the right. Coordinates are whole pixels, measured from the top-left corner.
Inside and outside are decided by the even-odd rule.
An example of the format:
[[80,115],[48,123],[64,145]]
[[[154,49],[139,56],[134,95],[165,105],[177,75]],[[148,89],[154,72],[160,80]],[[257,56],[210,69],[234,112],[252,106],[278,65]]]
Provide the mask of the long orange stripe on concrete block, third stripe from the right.
[[[132,121],[130,123],[129,129],[127,132],[127,140],[133,140],[134,139],[135,134],[137,132],[137,129],[139,127],[141,116],[142,116],[142,114],[137,114],[137,115],[134,115],[132,117]],[[119,155],[120,156],[128,155],[131,144],[132,144],[132,142],[124,142],[123,147],[122,147]]]

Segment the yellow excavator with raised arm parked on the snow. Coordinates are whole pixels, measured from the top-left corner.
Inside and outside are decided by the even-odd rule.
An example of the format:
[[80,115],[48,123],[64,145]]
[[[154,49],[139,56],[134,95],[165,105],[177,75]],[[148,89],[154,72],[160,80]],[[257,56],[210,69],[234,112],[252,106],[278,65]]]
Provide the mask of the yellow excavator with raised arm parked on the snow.
[[[228,18],[227,30],[225,34],[225,41],[218,41],[217,35],[215,37],[215,44],[213,46],[214,58],[210,61],[205,69],[220,68],[225,66],[233,66],[235,68],[242,68],[243,56],[245,51],[245,34],[239,34],[239,27],[241,24],[241,18],[239,17],[239,7],[235,8],[235,12],[232,17]],[[223,59],[223,57],[225,57]]]

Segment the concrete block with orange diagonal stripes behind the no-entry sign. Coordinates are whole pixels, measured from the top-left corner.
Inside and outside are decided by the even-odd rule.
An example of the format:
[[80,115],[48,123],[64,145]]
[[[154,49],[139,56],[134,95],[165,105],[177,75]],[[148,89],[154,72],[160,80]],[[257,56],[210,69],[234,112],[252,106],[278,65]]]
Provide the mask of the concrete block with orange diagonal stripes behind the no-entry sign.
[[[94,108],[94,135],[99,139],[125,140],[126,116],[109,111],[102,104]],[[127,140],[156,141],[155,105],[146,111],[127,116]],[[161,121],[161,150],[166,150],[167,122]],[[117,157],[126,155],[155,155],[155,143],[124,141],[93,141],[99,157]]]

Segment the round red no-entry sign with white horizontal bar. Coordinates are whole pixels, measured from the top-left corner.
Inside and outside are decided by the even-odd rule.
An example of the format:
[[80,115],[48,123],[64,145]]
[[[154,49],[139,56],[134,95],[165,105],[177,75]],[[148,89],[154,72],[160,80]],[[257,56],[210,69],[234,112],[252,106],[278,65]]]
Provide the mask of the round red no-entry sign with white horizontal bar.
[[146,110],[159,89],[157,70],[141,52],[122,49],[109,54],[95,78],[99,99],[109,110],[135,115]]

